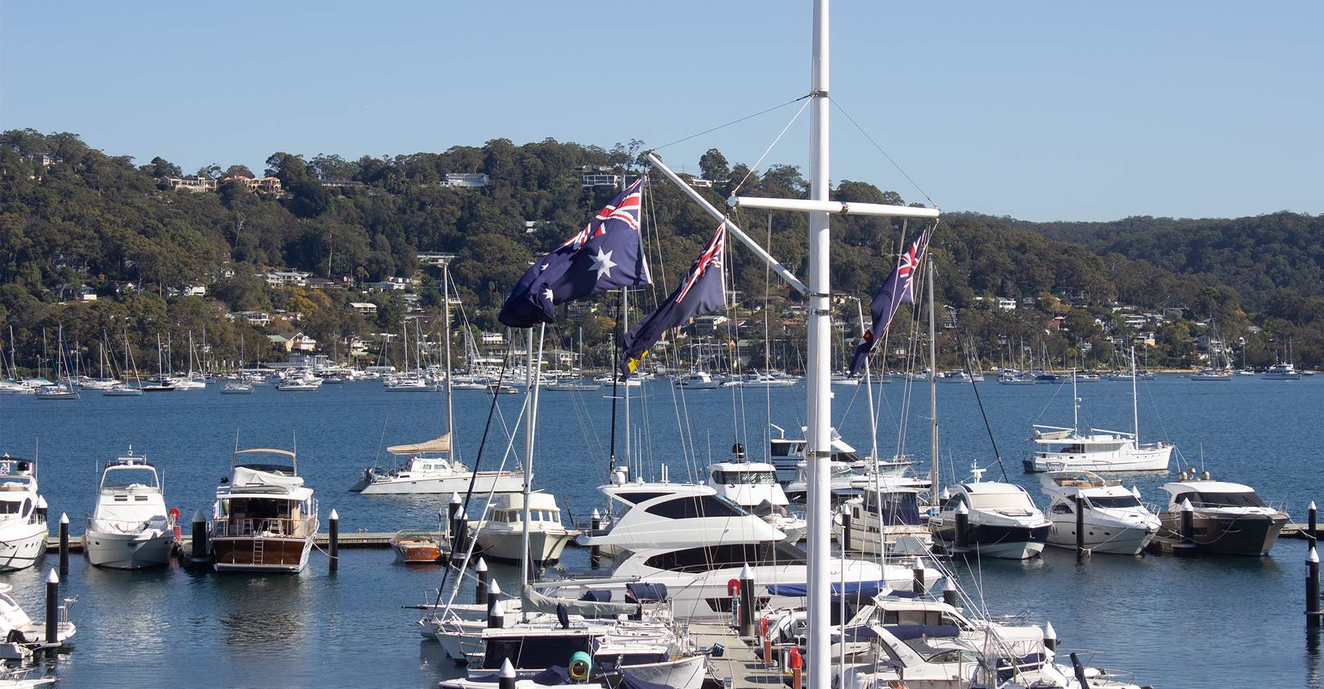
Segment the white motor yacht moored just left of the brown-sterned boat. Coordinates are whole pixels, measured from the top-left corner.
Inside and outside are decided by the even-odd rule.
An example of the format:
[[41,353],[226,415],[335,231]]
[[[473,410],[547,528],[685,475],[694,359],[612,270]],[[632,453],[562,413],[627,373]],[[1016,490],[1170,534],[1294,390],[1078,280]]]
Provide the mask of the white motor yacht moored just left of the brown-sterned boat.
[[169,562],[175,520],[166,509],[156,467],[144,456],[107,462],[97,505],[86,517],[83,553],[98,567],[136,570]]

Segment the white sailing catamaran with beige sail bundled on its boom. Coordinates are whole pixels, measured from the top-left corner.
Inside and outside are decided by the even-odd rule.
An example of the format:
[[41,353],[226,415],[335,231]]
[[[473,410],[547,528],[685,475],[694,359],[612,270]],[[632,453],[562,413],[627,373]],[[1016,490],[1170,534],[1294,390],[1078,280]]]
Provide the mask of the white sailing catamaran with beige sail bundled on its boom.
[[469,467],[451,458],[450,434],[425,443],[397,444],[387,448],[395,458],[409,458],[402,468],[363,469],[350,492],[361,495],[400,493],[466,493],[470,481],[475,493],[519,493],[524,491],[524,472],[479,471],[477,479]]

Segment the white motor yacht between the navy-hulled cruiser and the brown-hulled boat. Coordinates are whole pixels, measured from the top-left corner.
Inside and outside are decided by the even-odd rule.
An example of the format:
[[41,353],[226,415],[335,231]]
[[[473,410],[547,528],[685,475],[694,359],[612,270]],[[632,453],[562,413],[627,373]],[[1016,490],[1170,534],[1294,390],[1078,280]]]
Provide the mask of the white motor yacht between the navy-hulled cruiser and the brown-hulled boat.
[[1158,533],[1158,516],[1140,497],[1088,471],[1050,471],[1039,476],[1049,496],[1049,545],[1076,546],[1076,496],[1084,499],[1083,546],[1092,553],[1139,555]]

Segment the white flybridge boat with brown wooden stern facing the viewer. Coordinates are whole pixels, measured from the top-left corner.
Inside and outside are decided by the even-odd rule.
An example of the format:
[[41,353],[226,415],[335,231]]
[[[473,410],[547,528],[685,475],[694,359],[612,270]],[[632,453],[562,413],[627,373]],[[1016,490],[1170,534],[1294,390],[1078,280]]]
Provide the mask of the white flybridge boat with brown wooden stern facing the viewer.
[[[277,455],[289,464],[241,458],[250,454]],[[230,456],[230,475],[216,488],[208,534],[216,571],[302,571],[318,526],[318,501],[303,487],[294,452],[260,448]]]

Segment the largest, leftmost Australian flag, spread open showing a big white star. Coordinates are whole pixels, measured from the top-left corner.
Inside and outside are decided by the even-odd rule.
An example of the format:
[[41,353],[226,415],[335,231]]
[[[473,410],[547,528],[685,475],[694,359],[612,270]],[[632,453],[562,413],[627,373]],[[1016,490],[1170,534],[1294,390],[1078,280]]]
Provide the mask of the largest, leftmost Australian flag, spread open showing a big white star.
[[538,259],[506,296],[498,320],[511,328],[556,320],[556,304],[651,280],[639,239],[643,180],[617,194],[575,237]]

